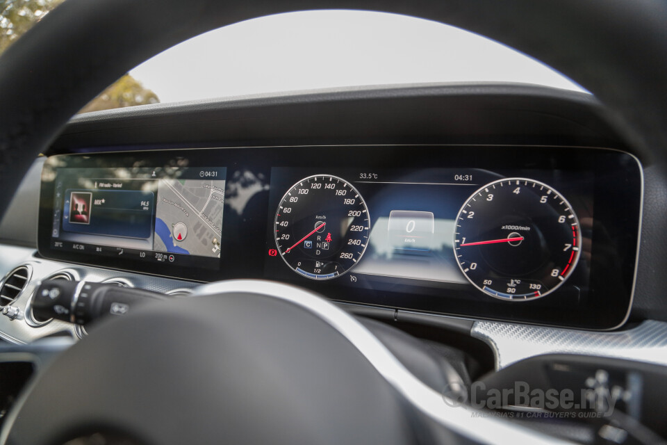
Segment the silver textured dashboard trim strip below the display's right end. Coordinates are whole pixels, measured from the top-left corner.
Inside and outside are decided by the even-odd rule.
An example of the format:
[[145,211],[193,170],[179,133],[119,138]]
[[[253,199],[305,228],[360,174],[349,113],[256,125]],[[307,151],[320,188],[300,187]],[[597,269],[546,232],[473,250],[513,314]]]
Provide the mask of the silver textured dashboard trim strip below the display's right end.
[[577,354],[667,366],[667,323],[645,321],[619,332],[591,332],[476,321],[470,331],[493,349],[496,369],[545,354]]

